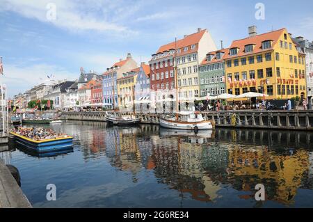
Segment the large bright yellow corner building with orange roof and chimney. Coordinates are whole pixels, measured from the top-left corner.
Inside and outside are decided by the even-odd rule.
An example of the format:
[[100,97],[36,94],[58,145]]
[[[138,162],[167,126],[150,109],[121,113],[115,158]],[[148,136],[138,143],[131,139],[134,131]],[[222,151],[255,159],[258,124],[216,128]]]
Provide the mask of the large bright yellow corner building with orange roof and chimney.
[[287,29],[232,42],[225,55],[227,93],[258,92],[268,100],[306,97],[305,54],[297,51]]

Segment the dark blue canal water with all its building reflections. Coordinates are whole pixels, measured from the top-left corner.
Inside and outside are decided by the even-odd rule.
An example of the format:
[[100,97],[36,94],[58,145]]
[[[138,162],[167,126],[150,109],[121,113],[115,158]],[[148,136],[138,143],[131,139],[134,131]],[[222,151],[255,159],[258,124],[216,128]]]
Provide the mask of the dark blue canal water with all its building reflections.
[[[313,134],[176,132],[157,125],[63,122],[73,150],[38,157],[10,145],[33,207],[313,207]],[[0,155],[0,157],[1,157]],[[56,201],[46,198],[56,185]],[[255,200],[264,184],[265,201]]]

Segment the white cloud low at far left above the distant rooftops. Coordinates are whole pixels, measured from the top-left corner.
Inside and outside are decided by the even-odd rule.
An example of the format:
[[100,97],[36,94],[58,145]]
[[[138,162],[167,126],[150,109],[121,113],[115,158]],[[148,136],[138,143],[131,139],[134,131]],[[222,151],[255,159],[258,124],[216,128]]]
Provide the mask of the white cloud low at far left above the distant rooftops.
[[4,64],[3,84],[8,86],[8,95],[13,97],[17,93],[23,93],[36,84],[40,84],[47,80],[48,74],[53,74],[54,79],[67,79],[74,81],[77,79],[77,73],[68,72],[63,68],[54,65],[39,64],[32,66],[17,66]]

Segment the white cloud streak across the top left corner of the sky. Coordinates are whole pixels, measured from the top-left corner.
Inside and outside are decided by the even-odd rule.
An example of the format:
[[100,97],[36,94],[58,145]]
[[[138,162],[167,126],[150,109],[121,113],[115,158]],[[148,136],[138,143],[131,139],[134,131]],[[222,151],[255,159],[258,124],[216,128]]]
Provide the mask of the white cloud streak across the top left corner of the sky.
[[[47,19],[48,3],[56,5],[56,19]],[[54,24],[62,29],[70,31],[115,31],[131,32],[125,26],[106,21],[104,18],[95,17],[88,13],[91,7],[85,3],[83,10],[79,10],[79,5],[69,0],[3,0],[1,10],[13,11],[27,18],[38,19],[40,22]],[[92,9],[92,8],[91,8]]]

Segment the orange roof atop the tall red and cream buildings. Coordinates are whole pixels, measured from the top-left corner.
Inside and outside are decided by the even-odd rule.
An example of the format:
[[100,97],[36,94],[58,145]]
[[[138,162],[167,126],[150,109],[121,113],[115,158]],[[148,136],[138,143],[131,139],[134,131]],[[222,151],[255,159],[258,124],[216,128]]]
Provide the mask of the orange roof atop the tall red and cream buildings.
[[162,45],[159,50],[157,51],[158,53],[163,53],[163,51],[170,51],[170,49],[180,49],[189,45],[194,45],[200,42],[202,36],[204,33],[207,32],[207,29],[203,29],[200,32],[193,33],[191,35],[187,35],[185,38],[182,38],[180,40],[176,41],[176,46],[175,46],[175,41],[170,42],[167,45]]

